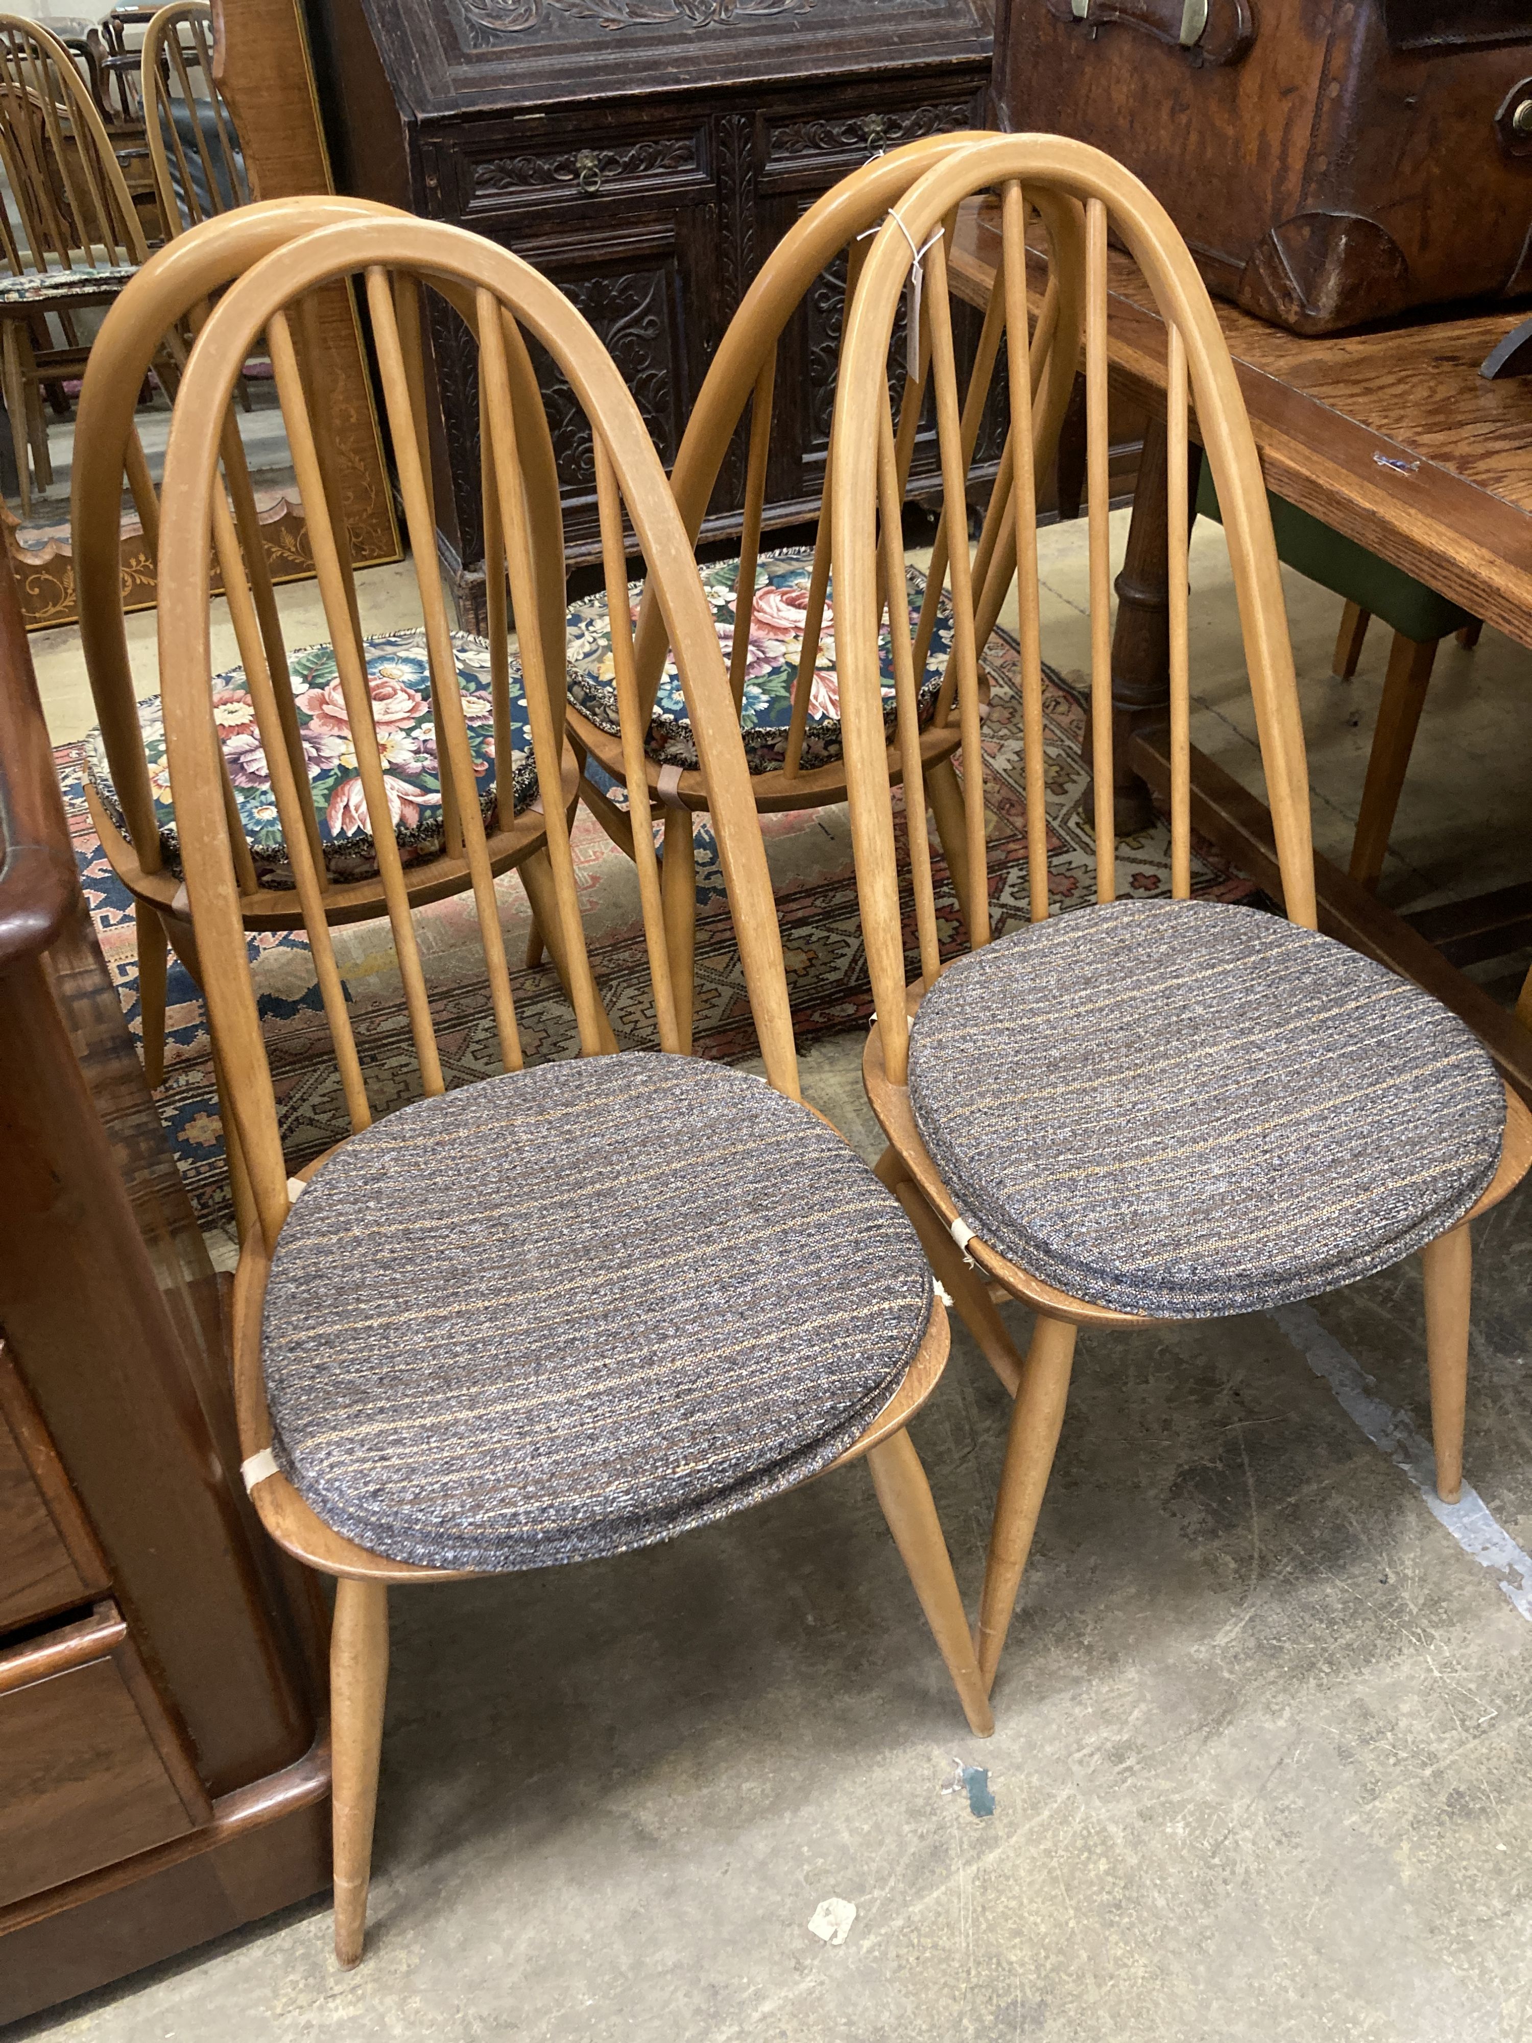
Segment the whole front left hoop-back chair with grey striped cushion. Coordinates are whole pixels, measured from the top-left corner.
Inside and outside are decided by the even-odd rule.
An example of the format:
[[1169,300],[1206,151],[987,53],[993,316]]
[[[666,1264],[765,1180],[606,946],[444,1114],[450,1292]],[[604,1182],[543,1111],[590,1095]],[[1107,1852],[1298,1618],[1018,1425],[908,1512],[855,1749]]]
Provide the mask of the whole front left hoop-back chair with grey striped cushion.
[[[411,901],[390,864],[388,921],[425,1097],[372,1122],[321,860],[294,823],[304,928],[353,1134],[290,1181],[210,713],[202,541],[210,521],[227,525],[217,511],[223,421],[255,333],[270,335],[288,433],[304,447],[313,427],[292,372],[290,306],[351,274],[366,278],[427,617],[443,787],[456,791],[507,1071],[443,1091]],[[478,339],[484,515],[509,564],[580,1028],[580,1058],[535,1068],[523,1068],[437,572],[415,339],[423,286],[441,292]],[[623,746],[662,1050],[601,1054],[607,1038],[564,807],[564,613],[549,611],[537,566],[539,552],[562,556],[558,476],[523,329],[547,349],[590,423],[615,595],[625,588],[623,511],[643,548],[697,731],[768,1083],[678,1054],[637,770],[643,731],[633,656],[621,635]],[[362,738],[366,648],[323,490],[310,503],[310,533],[364,801],[386,844],[384,752]],[[229,288],[192,349],[172,425],[163,541],[159,658],[176,813],[225,1097],[255,1201],[233,1308],[243,1473],[278,1545],[337,1579],[331,1745],[341,1963],[362,1955],[388,1583],[643,1547],[866,1457],[968,1722],[989,1732],[942,1528],[905,1432],[940,1377],[946,1318],[897,1201],[799,1099],[766,854],[717,637],[664,470],[596,335],[525,262],[456,227],[357,221],[278,249]],[[251,680],[274,717],[268,678],[251,668]],[[284,813],[300,809],[306,780],[276,740],[270,760]],[[617,1177],[615,1138],[629,1148]],[[699,1154],[715,1173],[705,1201]]]

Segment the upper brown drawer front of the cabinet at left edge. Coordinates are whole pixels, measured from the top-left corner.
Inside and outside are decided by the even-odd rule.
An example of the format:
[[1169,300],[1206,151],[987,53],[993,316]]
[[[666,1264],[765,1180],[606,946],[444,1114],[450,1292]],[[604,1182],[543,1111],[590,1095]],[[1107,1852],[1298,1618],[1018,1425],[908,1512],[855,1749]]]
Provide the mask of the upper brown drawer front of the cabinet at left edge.
[[106,1565],[0,1342],[0,1634],[102,1589]]

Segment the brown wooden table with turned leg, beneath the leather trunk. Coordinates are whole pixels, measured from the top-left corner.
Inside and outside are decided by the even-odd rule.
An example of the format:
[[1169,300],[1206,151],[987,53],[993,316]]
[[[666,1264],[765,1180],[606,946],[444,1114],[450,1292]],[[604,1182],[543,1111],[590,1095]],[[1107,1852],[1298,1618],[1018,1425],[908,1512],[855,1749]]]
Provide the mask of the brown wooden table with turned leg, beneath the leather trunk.
[[[952,245],[954,292],[985,306],[997,266],[999,212],[970,202]],[[1038,255],[1034,302],[1044,284],[1046,257]],[[1113,635],[1117,827],[1128,834],[1148,819],[1150,797],[1170,785],[1166,329],[1138,266],[1119,249],[1107,257],[1107,290],[1113,394],[1150,421]],[[1532,378],[1491,382],[1479,374],[1526,308],[1424,317],[1324,339],[1285,333],[1232,304],[1217,302],[1217,317],[1266,486],[1532,648]],[[1191,452],[1195,501],[1199,452]],[[1197,750],[1191,778],[1193,827],[1281,897],[1264,803]],[[1320,856],[1315,881],[1320,928],[1461,1013],[1532,1101],[1532,1032],[1463,970],[1532,942],[1532,885],[1399,915]]]

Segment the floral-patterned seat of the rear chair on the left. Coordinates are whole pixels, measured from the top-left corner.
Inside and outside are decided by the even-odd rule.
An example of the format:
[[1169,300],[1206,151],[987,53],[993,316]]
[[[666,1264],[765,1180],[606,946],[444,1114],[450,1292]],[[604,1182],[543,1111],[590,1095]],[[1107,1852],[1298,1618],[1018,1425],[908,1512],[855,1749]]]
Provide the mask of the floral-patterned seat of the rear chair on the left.
[[[496,817],[498,799],[490,648],[488,639],[470,637],[464,631],[456,631],[451,644],[464,688],[468,748],[480,782],[480,811],[488,827]],[[366,654],[372,715],[384,742],[394,838],[409,866],[423,858],[435,858],[445,842],[425,631],[394,631],[386,637],[366,639]],[[355,770],[351,725],[345,715],[335,654],[329,646],[308,646],[288,654],[288,668],[308,760],[308,787],[319,815],[325,868],[333,881],[341,883],[372,878],[378,872],[378,850],[368,829],[368,809]],[[229,760],[229,780],[245,825],[255,876],[261,887],[292,887],[292,866],[276,813],[272,774],[255,729],[255,707],[243,668],[235,666],[227,674],[214,676],[212,713],[223,738],[223,756]],[[139,725],[149,760],[159,846],[170,870],[180,872],[176,811],[170,803],[165,764],[165,719],[157,695],[139,703]],[[511,813],[519,815],[537,797],[537,768],[531,756],[527,703],[515,660],[511,662]],[[86,738],[86,772],[108,817],[127,834],[127,819],[112,787],[112,770],[98,729]]]

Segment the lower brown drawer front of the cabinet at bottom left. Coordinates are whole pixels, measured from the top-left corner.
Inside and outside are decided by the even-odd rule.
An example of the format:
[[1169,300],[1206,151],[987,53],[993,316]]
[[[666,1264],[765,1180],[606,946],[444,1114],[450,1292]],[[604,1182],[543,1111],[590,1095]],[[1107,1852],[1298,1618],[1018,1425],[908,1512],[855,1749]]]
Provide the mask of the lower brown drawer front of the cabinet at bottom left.
[[167,1726],[151,1735],[143,1688],[110,1604],[0,1655],[0,1904],[163,1845],[210,1816],[206,1804],[196,1808],[194,1777],[180,1790],[172,1779]]

